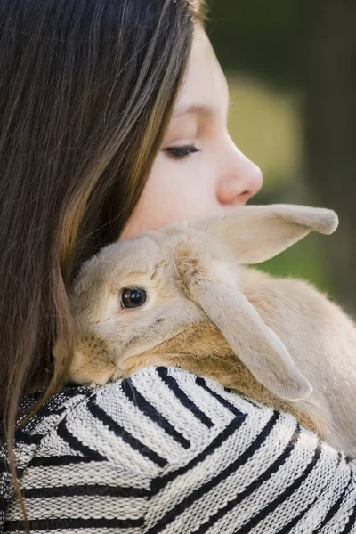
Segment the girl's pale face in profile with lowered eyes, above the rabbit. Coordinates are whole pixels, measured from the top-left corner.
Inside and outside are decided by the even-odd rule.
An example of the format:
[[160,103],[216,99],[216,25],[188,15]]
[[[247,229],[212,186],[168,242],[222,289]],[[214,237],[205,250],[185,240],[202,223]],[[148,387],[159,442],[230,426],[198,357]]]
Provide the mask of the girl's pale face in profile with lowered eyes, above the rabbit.
[[225,214],[263,184],[227,130],[229,91],[206,33],[196,27],[187,74],[138,206],[120,239],[166,223]]

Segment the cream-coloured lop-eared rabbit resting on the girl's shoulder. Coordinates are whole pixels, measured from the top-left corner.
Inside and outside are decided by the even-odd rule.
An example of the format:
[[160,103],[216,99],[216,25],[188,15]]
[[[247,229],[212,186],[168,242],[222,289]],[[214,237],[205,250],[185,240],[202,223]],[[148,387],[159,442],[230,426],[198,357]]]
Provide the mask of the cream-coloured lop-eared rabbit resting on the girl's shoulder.
[[295,414],[356,457],[354,323],[305,282],[241,266],[337,224],[327,209],[243,206],[103,248],[73,287],[69,378],[105,384],[150,365],[186,368]]

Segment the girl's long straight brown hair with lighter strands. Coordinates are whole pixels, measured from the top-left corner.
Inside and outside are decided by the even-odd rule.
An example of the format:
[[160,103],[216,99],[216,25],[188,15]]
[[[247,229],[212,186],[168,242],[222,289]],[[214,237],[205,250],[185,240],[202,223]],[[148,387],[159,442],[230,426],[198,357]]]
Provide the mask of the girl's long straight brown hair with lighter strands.
[[[0,414],[25,518],[20,399],[44,388],[23,423],[65,383],[70,282],[137,206],[203,11],[202,0],[0,3]],[[68,347],[54,363],[57,336]]]

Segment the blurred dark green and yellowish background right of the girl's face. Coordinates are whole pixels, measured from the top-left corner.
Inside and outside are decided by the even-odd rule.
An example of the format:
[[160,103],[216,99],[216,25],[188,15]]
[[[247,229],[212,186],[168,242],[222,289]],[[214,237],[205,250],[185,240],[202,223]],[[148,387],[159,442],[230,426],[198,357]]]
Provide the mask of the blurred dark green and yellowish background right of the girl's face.
[[261,167],[252,204],[336,210],[260,267],[310,280],[356,317],[356,1],[210,0],[207,34],[228,77],[231,137]]

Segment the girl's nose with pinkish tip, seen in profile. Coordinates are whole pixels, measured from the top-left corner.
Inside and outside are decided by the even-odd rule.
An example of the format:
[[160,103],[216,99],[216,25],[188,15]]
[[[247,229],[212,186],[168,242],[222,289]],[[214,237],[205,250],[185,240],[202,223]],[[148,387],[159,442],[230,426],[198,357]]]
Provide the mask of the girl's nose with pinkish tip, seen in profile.
[[[230,140],[231,141],[231,140]],[[231,141],[230,157],[225,159],[218,182],[217,198],[223,205],[240,206],[263,186],[261,169]]]

